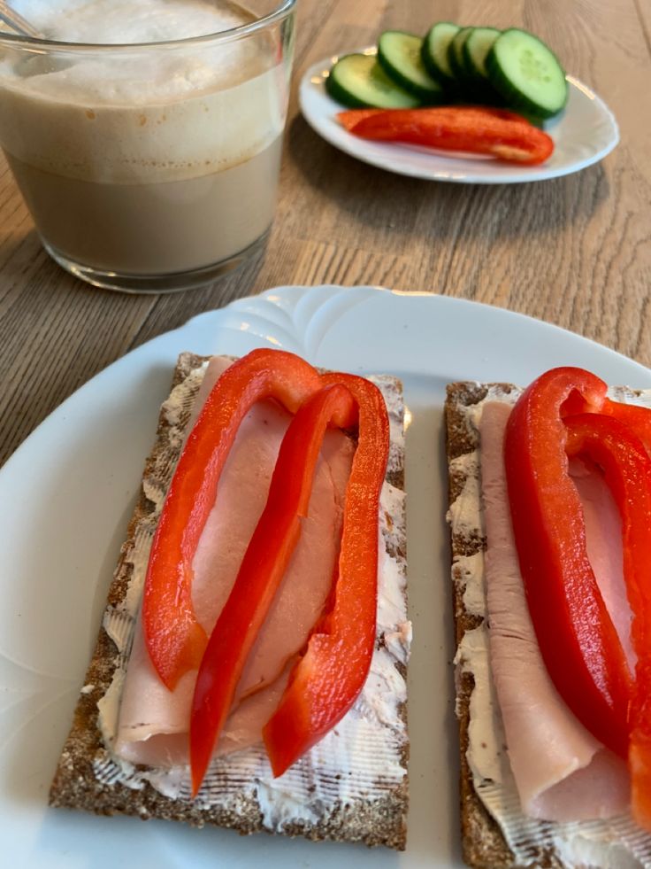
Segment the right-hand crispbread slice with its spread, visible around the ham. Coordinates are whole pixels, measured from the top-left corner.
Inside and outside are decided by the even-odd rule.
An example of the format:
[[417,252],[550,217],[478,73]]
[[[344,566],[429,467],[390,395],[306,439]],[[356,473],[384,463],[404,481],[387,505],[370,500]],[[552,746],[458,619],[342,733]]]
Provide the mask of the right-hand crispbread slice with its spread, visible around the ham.
[[[567,824],[527,818],[520,809],[514,782],[502,788],[492,780],[473,781],[466,753],[469,748],[473,693],[486,692],[486,679],[475,685],[471,666],[464,660],[472,648],[472,635],[486,633],[477,594],[468,594],[468,558],[479,563],[486,550],[481,518],[479,420],[484,400],[514,404],[522,389],[513,384],[456,383],[448,385],[446,429],[448,451],[449,508],[452,538],[452,578],[456,624],[456,712],[461,748],[461,819],[463,857],[476,869],[569,869],[579,865],[651,866],[651,836],[640,830],[630,814],[613,819],[595,819]],[[625,386],[609,388],[609,397],[624,403],[651,407],[651,390]],[[477,566],[477,565],[476,565]],[[483,575],[483,569],[481,571]],[[466,641],[464,641],[466,640]],[[475,648],[478,648],[477,646]],[[487,655],[487,646],[486,655]],[[479,706],[478,706],[479,708]],[[482,707],[486,710],[486,705]],[[495,733],[501,734],[495,716]],[[474,720],[474,719],[473,719]],[[485,745],[482,744],[482,748]],[[497,743],[504,756],[506,746]],[[508,764],[507,764],[508,766]],[[508,773],[510,774],[510,772]],[[486,806],[490,811],[486,810]],[[498,824],[491,812],[501,819]],[[509,837],[507,841],[507,836]],[[574,845],[576,844],[576,849]],[[599,848],[604,850],[599,850]],[[590,856],[586,856],[586,855]],[[603,860],[601,860],[603,855]]]

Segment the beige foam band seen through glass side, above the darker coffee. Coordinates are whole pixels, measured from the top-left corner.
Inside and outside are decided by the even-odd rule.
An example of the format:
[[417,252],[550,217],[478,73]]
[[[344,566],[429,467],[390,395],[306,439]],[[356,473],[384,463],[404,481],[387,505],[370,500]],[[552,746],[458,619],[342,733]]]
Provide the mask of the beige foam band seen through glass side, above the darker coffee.
[[14,157],[80,181],[149,183],[210,175],[280,136],[284,105],[272,69],[234,88],[162,105],[65,104],[5,88],[0,138]]

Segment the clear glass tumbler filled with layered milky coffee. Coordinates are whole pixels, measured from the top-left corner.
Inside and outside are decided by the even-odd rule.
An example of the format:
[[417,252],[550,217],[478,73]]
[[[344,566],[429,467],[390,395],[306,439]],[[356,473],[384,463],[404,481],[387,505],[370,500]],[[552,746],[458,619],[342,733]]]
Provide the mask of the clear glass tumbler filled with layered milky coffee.
[[171,42],[0,36],[0,145],[46,250],[90,284],[184,290],[264,242],[295,0],[221,5],[241,24]]

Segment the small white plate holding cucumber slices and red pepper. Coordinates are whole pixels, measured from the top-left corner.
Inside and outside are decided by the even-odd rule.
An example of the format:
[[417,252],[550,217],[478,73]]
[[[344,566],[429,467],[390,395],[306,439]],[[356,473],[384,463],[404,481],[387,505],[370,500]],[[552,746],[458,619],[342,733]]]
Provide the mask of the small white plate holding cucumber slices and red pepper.
[[[374,54],[375,49],[360,49]],[[347,52],[352,53],[352,52]],[[303,75],[299,89],[301,110],[310,127],[351,157],[388,172],[429,181],[480,184],[516,184],[570,175],[603,159],[619,142],[617,121],[609,107],[585,84],[568,75],[570,95],[563,114],[547,122],[554,153],[541,166],[513,166],[492,158],[450,157],[408,144],[370,142],[348,133],[337,121],[346,106],[326,92],[326,78],[337,60],[326,58]]]

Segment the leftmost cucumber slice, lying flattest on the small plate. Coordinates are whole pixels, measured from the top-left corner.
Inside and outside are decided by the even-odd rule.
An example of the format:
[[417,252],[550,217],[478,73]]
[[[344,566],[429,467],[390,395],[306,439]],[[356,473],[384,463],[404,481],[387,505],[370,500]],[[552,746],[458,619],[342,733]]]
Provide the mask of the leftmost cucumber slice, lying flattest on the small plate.
[[339,58],[326,78],[333,99],[351,108],[411,109],[420,100],[387,76],[371,54],[347,54]]

